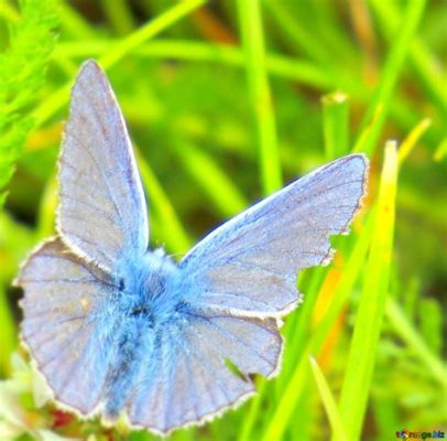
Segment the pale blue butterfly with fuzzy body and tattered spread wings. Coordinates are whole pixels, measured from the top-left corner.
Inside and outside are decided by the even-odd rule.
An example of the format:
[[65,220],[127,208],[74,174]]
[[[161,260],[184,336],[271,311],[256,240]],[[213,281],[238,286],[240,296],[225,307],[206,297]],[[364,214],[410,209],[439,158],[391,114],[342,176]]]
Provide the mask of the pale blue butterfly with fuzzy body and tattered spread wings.
[[149,248],[131,142],[94,61],[73,87],[58,164],[57,235],[15,281],[22,340],[61,405],[159,434],[238,406],[255,391],[250,374],[279,374],[296,275],[330,261],[329,237],[347,233],[368,174],[363,154],[338,159],[176,262]]

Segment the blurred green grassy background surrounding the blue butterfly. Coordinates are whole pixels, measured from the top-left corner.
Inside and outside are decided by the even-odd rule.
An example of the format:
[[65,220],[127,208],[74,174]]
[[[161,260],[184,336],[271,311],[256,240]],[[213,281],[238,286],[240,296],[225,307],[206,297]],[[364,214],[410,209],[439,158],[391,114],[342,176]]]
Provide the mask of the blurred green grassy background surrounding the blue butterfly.
[[446,23],[441,0],[0,1],[0,439],[154,439],[45,402],[18,344],[11,281],[54,232],[62,121],[90,57],[137,148],[153,245],[176,256],[326,161],[371,159],[352,233],[299,275],[280,376],[172,438],[445,431]]

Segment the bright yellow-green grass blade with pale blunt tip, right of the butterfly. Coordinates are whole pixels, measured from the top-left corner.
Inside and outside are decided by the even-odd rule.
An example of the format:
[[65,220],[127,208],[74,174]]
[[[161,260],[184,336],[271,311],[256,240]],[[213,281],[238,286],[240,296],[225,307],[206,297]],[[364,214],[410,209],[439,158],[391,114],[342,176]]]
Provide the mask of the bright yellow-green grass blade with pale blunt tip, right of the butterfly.
[[394,142],[385,148],[374,232],[366,267],[363,291],[340,396],[340,413],[350,440],[360,438],[374,368],[390,281],[393,251],[394,207],[397,181]]

